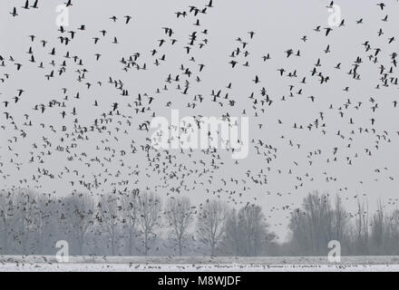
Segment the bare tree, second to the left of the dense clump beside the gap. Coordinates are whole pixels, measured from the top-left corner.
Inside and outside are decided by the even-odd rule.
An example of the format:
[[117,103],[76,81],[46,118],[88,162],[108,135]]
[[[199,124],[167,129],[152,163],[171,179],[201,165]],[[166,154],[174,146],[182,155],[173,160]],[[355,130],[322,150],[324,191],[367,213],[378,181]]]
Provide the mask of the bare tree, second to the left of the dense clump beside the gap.
[[189,235],[192,211],[189,198],[170,198],[165,209],[170,226],[170,235],[177,242],[179,255],[182,254],[183,242]]

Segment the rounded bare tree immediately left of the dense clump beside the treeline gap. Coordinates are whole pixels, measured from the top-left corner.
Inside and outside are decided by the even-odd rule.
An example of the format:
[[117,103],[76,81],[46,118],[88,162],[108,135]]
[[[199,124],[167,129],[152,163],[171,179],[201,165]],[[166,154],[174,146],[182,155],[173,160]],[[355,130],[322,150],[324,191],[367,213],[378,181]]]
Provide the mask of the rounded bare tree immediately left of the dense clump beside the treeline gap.
[[206,247],[209,247],[211,256],[215,256],[216,248],[225,232],[227,214],[228,208],[220,200],[209,201],[200,208],[198,237]]

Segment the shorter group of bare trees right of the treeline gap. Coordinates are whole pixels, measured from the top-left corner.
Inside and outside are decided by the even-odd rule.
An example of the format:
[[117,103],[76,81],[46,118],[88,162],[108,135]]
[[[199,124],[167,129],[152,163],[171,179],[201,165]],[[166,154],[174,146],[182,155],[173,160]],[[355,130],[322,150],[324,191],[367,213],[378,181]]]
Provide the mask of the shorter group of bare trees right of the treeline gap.
[[399,210],[387,212],[381,201],[370,216],[366,202],[358,200],[348,212],[339,196],[332,200],[316,191],[291,213],[289,227],[286,255],[325,256],[331,240],[341,243],[343,255],[399,254]]

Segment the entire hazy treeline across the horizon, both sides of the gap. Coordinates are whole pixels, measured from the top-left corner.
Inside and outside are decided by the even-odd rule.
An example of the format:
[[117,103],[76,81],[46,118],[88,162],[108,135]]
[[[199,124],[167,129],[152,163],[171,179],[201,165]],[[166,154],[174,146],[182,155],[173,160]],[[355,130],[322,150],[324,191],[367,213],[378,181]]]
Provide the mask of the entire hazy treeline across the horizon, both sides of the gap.
[[262,208],[229,208],[220,199],[192,205],[137,189],[98,197],[67,197],[31,189],[0,191],[0,255],[54,255],[65,240],[83,256],[326,256],[330,240],[343,255],[399,254],[399,210],[380,202],[346,213],[340,198],[311,193],[292,211],[291,238],[278,244]]

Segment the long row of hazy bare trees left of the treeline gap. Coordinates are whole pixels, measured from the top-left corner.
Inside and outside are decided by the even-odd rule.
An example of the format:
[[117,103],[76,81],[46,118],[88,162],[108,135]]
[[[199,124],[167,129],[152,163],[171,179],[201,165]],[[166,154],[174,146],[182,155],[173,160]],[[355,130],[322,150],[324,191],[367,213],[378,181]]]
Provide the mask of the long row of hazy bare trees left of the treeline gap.
[[59,198],[30,189],[0,191],[0,254],[50,255],[66,240],[72,255],[258,256],[273,239],[262,210],[226,202],[199,206],[131,190]]

